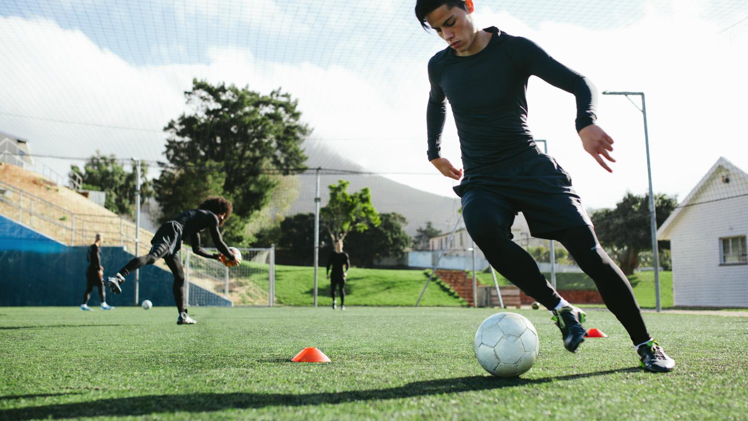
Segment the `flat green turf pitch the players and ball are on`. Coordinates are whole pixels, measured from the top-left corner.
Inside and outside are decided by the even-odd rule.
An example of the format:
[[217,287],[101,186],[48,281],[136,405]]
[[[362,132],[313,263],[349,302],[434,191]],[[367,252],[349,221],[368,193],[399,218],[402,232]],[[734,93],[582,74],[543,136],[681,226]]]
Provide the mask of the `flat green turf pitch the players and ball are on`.
[[[0,420],[745,419],[748,318],[645,314],[678,363],[638,368],[610,313],[570,354],[540,310],[539,360],[493,378],[473,356],[491,309],[0,308]],[[332,363],[290,363],[307,345]]]

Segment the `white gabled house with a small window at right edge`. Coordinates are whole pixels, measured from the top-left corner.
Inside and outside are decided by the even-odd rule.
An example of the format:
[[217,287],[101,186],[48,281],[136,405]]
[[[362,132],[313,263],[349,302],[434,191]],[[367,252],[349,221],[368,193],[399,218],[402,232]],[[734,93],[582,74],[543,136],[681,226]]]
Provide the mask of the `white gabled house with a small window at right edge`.
[[720,158],[657,230],[676,306],[748,307],[748,174]]

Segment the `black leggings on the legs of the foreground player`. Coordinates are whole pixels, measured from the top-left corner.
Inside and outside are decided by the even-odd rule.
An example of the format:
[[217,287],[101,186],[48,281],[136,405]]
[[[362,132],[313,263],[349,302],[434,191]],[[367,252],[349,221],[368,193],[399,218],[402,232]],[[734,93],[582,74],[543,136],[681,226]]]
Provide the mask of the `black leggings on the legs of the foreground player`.
[[[468,209],[465,209],[468,210]],[[545,279],[533,257],[506,234],[497,218],[471,218],[465,214],[468,233],[485,254],[491,265],[530,297],[549,310],[561,297]],[[549,235],[557,239],[600,291],[611,313],[628,331],[634,344],[650,339],[631,284],[610,256],[598,245],[595,231],[588,225],[557,231]]]

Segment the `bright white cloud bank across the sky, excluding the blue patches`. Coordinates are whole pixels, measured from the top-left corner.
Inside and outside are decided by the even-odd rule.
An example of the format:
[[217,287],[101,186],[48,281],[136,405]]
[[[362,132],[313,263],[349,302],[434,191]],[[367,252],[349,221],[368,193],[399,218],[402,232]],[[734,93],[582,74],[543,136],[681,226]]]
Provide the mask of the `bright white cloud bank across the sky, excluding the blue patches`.
[[[242,14],[231,19],[225,17],[224,4],[194,1],[179,7],[187,21],[214,16],[224,25],[243,21],[278,29],[287,24],[287,10],[272,1],[245,3]],[[717,35],[722,28],[702,19],[693,4],[681,4],[647,10],[640,21],[606,31],[554,22],[530,27],[490,9],[476,17],[484,25],[535,40],[562,63],[589,76],[600,90],[645,91],[655,189],[682,198],[719,156],[748,169],[740,102],[748,95],[742,76],[748,63],[740,53],[748,42],[745,32],[733,31],[729,40]],[[302,1],[299,8],[303,7],[313,4]],[[353,7],[343,10],[343,17],[334,20],[338,28],[352,25],[345,16],[354,12]],[[305,16],[303,10],[299,13]],[[400,10],[384,8],[381,13],[381,19],[387,19]],[[263,16],[263,22],[256,22],[257,16]],[[407,22],[417,26],[411,17]],[[48,20],[0,17],[0,28],[9,28],[0,32],[0,58],[12,64],[0,67],[0,129],[30,139],[36,153],[88,156],[99,149],[121,157],[159,159],[165,143],[160,131],[185,109],[183,91],[197,77],[248,85],[263,93],[281,87],[298,98],[304,120],[314,129],[312,137],[340,155],[373,171],[435,174],[426,161],[426,62],[444,46],[435,34],[420,28],[404,30],[409,38],[402,46],[381,43],[371,32],[352,34],[331,43],[329,51],[326,45],[319,47],[331,54],[326,63],[278,61],[273,59],[283,54],[263,56],[267,51],[227,45],[208,46],[204,63],[147,66],[131,64],[81,31]],[[323,36],[315,34],[313,25],[301,28],[307,29],[307,37]],[[149,54],[170,48],[153,41],[145,46]],[[537,138],[548,139],[549,153],[571,173],[587,206],[611,206],[626,190],[646,191],[642,116],[625,98],[601,96],[600,101],[599,123],[616,139],[614,156],[619,162],[613,165],[613,175],[604,173],[581,149],[570,94],[532,78],[528,101],[530,127]],[[444,137],[445,155],[458,164],[459,143],[451,116]],[[438,175],[391,178],[452,194],[453,182]]]

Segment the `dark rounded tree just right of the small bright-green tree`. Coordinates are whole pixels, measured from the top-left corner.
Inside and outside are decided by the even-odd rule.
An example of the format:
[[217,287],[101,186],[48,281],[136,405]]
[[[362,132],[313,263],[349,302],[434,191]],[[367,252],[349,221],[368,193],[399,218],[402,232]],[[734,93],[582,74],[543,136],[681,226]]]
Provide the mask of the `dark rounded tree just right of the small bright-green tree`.
[[405,216],[396,212],[379,215],[381,224],[364,232],[353,231],[346,239],[346,248],[354,251],[351,262],[355,266],[370,268],[374,262],[386,257],[400,258],[413,240],[403,226],[408,224]]

